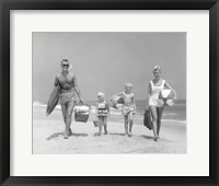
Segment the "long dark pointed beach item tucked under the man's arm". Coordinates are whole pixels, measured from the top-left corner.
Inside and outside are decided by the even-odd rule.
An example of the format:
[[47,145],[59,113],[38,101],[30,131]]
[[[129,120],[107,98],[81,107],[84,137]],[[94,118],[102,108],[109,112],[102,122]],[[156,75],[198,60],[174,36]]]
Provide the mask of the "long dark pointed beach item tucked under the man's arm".
[[51,112],[55,109],[59,101],[59,94],[60,94],[60,86],[57,85],[49,95],[49,100],[47,102],[47,107],[46,107],[46,116],[51,114]]

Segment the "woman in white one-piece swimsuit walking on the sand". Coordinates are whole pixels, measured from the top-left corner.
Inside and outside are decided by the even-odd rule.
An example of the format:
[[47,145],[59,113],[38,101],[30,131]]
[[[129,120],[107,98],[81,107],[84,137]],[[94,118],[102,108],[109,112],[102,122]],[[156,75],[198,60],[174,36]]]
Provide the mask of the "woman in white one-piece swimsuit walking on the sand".
[[154,79],[150,81],[148,86],[146,109],[150,111],[152,114],[153,135],[154,141],[157,141],[160,133],[161,117],[163,114],[163,105],[159,102],[158,98],[159,94],[162,90],[170,89],[174,92],[174,100],[176,100],[176,93],[165,80],[161,79],[160,66],[155,66],[153,68],[153,75]]

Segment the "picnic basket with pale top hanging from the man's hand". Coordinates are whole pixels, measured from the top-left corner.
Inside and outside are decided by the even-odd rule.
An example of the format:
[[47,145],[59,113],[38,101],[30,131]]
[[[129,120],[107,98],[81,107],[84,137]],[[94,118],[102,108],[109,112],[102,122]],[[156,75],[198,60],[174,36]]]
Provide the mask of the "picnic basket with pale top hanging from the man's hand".
[[90,115],[90,105],[79,102],[74,105],[74,120],[79,123],[87,123]]

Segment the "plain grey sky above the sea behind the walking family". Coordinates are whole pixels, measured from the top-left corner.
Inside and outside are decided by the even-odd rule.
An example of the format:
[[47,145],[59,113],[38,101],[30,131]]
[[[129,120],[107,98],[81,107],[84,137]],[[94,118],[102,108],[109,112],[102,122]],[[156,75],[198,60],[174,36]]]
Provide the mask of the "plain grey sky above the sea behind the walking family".
[[152,69],[186,98],[186,33],[147,32],[34,32],[33,102],[46,103],[60,73],[60,61],[72,63],[84,101],[95,101],[99,91],[106,98],[134,84],[136,100],[146,100]]

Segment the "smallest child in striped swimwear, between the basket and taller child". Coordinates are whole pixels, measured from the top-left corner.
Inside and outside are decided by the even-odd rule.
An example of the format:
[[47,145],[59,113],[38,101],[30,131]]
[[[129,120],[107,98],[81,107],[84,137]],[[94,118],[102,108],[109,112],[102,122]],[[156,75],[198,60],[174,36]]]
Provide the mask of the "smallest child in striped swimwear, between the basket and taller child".
[[110,115],[108,103],[105,101],[105,95],[102,92],[97,93],[99,102],[96,103],[96,116],[99,118],[99,136],[102,133],[102,126],[104,126],[104,133],[107,135],[107,117]]

